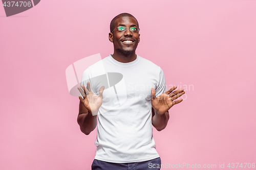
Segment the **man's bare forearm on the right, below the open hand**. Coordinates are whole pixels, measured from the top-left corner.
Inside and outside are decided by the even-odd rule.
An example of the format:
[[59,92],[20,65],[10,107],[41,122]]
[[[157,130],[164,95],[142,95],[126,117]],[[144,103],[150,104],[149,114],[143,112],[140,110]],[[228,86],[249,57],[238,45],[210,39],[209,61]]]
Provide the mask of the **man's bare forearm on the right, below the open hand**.
[[155,109],[152,107],[152,125],[156,128],[156,130],[163,130],[168,123],[169,120],[169,112],[165,112],[164,114],[159,114],[155,112]]

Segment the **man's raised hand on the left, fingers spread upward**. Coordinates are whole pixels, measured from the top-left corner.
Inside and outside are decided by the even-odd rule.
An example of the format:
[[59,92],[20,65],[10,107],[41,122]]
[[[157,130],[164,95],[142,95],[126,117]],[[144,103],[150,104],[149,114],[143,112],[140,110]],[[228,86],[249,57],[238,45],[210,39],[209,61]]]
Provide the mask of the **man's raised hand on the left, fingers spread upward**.
[[[83,91],[81,89],[83,88]],[[83,96],[83,99],[81,96],[79,96],[79,100],[83,103],[84,107],[87,108],[88,112],[92,113],[92,115],[96,115],[98,113],[98,110],[100,106],[102,105],[102,98],[103,98],[103,90],[104,86],[101,86],[99,89],[99,95],[95,95],[90,86],[90,82],[87,83],[87,88],[81,85],[81,87],[77,87],[77,89],[80,91],[80,93]],[[86,93],[84,93],[84,91]]]

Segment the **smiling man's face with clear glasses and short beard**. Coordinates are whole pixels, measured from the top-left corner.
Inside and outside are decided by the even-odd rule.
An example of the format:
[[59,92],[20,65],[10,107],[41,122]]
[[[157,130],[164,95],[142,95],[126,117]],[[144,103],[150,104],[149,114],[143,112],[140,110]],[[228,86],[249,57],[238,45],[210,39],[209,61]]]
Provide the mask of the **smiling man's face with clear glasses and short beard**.
[[124,26],[128,28],[126,31],[118,31],[115,29],[114,32],[110,33],[109,39],[114,43],[114,48],[117,52],[127,55],[135,52],[138,43],[140,42],[139,32],[130,31],[130,27],[137,27],[138,23],[134,17],[119,17],[115,21],[115,28]]

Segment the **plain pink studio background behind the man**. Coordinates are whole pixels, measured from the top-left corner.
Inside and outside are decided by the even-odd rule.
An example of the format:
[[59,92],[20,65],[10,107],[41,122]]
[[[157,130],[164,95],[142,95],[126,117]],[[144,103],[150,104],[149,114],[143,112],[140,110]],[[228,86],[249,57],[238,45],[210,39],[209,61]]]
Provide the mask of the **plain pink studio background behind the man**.
[[1,5],[0,169],[91,168],[96,131],[80,132],[65,70],[113,53],[109,25],[122,12],[139,21],[137,54],[162,67],[168,87],[187,86],[166,129],[154,129],[162,163],[256,163],[255,9],[256,1],[42,0],[6,17]]

